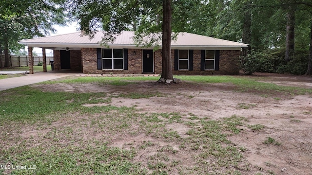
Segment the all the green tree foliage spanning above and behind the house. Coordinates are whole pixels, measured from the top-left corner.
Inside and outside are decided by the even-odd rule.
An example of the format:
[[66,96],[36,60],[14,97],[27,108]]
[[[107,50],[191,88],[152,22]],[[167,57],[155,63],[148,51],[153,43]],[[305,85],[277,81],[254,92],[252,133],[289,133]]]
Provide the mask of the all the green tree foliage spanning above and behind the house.
[[[64,14],[90,37],[105,31],[103,44],[114,41],[122,31],[135,31],[137,44],[157,46],[163,39],[164,7],[170,5],[171,38],[177,32],[189,32],[243,42],[250,48],[243,49],[242,66],[249,59],[255,71],[312,73],[311,0],[165,1],[1,1],[0,53],[18,50],[17,41],[22,38],[53,32],[54,24],[64,23]],[[148,42],[142,39],[147,36]]]

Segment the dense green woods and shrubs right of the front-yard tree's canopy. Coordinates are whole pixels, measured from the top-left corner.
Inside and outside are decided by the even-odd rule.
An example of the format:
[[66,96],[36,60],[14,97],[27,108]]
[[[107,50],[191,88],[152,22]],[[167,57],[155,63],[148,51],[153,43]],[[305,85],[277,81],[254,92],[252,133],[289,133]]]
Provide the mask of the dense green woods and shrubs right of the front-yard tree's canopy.
[[[309,50],[311,0],[204,0],[195,5],[196,11],[191,12],[195,18],[189,20],[186,31],[250,44],[252,53],[242,58],[241,65],[246,74],[303,74],[307,70],[307,54],[302,54]],[[286,14],[290,5],[296,6],[295,54],[291,62],[285,63]]]

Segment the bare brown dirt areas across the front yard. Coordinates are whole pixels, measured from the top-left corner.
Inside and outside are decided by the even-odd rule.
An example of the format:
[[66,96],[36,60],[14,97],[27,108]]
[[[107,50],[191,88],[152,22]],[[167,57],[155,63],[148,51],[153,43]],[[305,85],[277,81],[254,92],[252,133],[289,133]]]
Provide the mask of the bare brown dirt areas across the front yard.
[[[260,81],[277,85],[312,88],[311,77],[286,75],[268,77],[263,74],[258,74],[256,77],[262,77]],[[184,121],[191,116],[213,120],[234,115],[245,117],[246,125],[261,124],[264,126],[259,131],[242,127],[239,134],[228,138],[237,147],[246,149],[242,154],[252,165],[251,170],[246,174],[272,171],[276,175],[304,175],[312,172],[312,96],[309,94],[298,96],[274,94],[264,97],[234,91],[235,86],[232,84],[191,84],[189,82],[177,85],[140,82],[127,86],[59,83],[32,87],[43,91],[106,92],[108,98],[112,98],[111,102],[85,106],[127,106],[139,109],[140,113],[149,114],[178,112],[183,116]],[[140,99],[117,96],[123,93],[160,93],[161,95]],[[57,123],[53,123],[52,126],[55,124]],[[176,123],[167,124],[166,128],[176,131],[181,137],[186,137],[189,130],[185,125]],[[94,133],[89,134],[96,137]],[[26,132],[25,136],[27,135],[33,135],[33,133]],[[98,132],[98,135],[105,134],[101,135]],[[264,141],[269,137],[281,144],[279,146],[265,144]],[[186,167],[194,164],[194,160],[184,155],[179,145],[170,144],[144,133],[137,133],[135,136],[119,133],[110,140],[112,146],[124,149],[139,147],[151,141],[153,145],[150,145],[149,149],[141,148],[138,152],[135,157],[138,162],[147,162],[153,155],[155,156],[157,150],[170,146],[173,150],[179,151],[178,156],[183,159]],[[193,153],[195,156],[195,151]],[[168,155],[170,157],[172,154]]]

